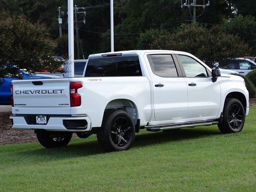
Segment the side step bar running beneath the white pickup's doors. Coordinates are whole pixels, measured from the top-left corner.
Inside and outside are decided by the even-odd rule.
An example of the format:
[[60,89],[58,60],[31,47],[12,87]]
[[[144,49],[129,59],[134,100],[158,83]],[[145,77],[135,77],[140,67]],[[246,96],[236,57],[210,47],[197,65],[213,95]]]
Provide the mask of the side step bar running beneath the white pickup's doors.
[[198,126],[211,126],[218,124],[218,121],[210,122],[197,122],[197,123],[187,123],[187,124],[178,124],[178,125],[166,125],[166,126],[157,126],[157,127],[148,127],[147,131],[157,132],[162,130],[171,130],[185,127],[198,127]]

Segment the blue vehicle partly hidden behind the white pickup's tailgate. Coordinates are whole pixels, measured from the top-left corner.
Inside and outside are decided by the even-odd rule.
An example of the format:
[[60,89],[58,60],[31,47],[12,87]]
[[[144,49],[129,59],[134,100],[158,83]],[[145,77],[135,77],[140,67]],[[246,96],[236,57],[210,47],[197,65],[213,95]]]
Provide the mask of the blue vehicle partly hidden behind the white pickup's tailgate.
[[18,77],[0,77],[2,85],[0,85],[0,105],[10,105],[11,104],[11,84],[12,80],[20,79],[48,79],[48,78],[62,78],[60,76],[46,75],[46,74],[35,74],[30,75],[23,70],[18,70]]

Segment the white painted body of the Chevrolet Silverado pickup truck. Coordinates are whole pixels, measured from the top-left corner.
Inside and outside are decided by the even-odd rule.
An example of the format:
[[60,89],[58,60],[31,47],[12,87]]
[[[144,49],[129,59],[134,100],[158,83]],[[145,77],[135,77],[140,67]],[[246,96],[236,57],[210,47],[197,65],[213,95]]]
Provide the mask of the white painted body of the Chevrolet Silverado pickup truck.
[[[47,124],[28,127],[26,122],[20,120],[23,117],[19,117],[19,114],[50,114],[89,119],[90,125],[86,130],[80,131],[90,131],[92,127],[101,126],[104,110],[108,104],[113,100],[120,99],[128,100],[134,104],[141,127],[216,120],[220,118],[226,96],[231,92],[244,94],[246,97],[246,115],[249,112],[248,90],[241,77],[224,74],[216,82],[212,82],[212,77],[162,78],[152,72],[147,57],[148,54],[182,54],[194,58],[211,71],[202,61],[189,53],[168,50],[144,50],[126,51],[122,52],[122,54],[139,56],[142,76],[43,79],[40,80],[44,83],[42,86],[34,86],[32,81],[36,80],[13,81],[14,104],[26,104],[26,106],[12,108],[12,113],[15,114],[11,117],[14,121],[12,128],[26,129],[33,127],[34,129],[56,130],[56,126],[60,127],[62,125]],[[88,60],[100,58],[102,57],[101,55],[90,55]],[[59,105],[61,103],[70,104],[70,82],[82,82],[83,84],[83,87],[78,89],[78,94],[82,98],[82,104],[79,107]],[[197,86],[188,86],[192,82],[196,83]],[[164,84],[164,87],[155,87],[154,85],[158,83]],[[16,94],[16,91],[20,90],[39,89],[50,91],[60,89],[63,91],[61,94],[55,95]],[[61,117],[58,122],[61,122]],[[62,129],[62,131],[70,130]]]

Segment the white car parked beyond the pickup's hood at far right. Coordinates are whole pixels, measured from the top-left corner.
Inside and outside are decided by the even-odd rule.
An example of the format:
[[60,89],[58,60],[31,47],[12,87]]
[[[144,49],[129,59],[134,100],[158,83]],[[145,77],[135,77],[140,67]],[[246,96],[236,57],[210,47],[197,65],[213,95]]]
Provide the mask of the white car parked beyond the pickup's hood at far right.
[[236,71],[241,75],[246,75],[256,68],[256,63],[247,58],[236,58],[225,62],[225,64],[219,63],[218,65],[222,69]]

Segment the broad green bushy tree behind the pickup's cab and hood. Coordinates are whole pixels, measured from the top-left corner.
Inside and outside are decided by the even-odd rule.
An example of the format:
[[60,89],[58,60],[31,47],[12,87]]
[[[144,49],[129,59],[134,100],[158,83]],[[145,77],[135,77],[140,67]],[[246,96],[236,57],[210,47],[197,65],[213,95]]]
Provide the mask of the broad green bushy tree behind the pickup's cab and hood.
[[250,53],[248,44],[238,36],[225,34],[219,27],[208,29],[200,25],[184,25],[174,33],[159,36],[151,44],[152,49],[189,52],[208,66],[215,62],[237,58]]

